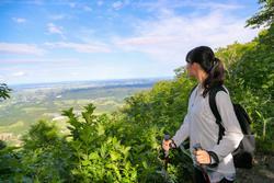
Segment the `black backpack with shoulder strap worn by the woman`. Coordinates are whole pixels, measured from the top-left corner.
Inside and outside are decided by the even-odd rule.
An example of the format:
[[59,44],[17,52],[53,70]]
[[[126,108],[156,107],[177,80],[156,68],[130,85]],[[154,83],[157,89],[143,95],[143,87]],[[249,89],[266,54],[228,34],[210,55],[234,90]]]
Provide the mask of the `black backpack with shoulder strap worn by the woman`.
[[[216,100],[215,100],[216,94],[219,91],[224,91],[227,93],[224,87],[216,87],[209,91],[209,106],[216,118],[216,124],[219,126],[219,137],[218,137],[217,144],[219,144],[222,136],[225,135],[225,128],[221,125],[221,117],[219,115],[219,112],[216,105]],[[232,104],[233,104],[235,114],[237,116],[237,119],[240,124],[240,127],[243,134],[243,139],[241,140],[238,148],[232,152],[235,167],[243,168],[243,169],[251,169],[252,162],[253,162],[253,153],[255,150],[255,137],[251,133],[251,128],[250,128],[251,121],[246,110],[240,104],[235,104],[235,103]]]

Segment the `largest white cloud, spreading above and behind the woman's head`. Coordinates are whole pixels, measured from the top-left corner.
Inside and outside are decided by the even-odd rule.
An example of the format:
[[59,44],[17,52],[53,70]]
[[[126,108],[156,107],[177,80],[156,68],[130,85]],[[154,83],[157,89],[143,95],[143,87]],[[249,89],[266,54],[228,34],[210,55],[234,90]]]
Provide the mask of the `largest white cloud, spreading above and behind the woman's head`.
[[161,11],[157,20],[136,22],[135,35],[113,38],[123,50],[146,53],[157,60],[184,64],[186,53],[199,45],[218,48],[249,42],[258,30],[244,28],[246,19],[212,11],[206,15],[178,15]]

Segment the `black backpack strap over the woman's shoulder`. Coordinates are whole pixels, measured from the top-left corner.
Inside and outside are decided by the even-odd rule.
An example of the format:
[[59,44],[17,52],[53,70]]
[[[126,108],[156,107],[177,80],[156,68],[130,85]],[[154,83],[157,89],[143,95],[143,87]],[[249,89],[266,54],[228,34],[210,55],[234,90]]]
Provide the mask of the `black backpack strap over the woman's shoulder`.
[[220,142],[222,136],[225,135],[225,128],[224,126],[221,125],[221,117],[220,117],[220,114],[218,112],[218,108],[217,108],[217,104],[216,104],[216,94],[219,92],[219,91],[224,91],[227,93],[226,89],[224,87],[216,87],[216,88],[213,88],[209,90],[209,106],[210,106],[210,110],[216,118],[216,124],[219,126],[219,134],[218,134],[218,141],[217,141],[217,145]]

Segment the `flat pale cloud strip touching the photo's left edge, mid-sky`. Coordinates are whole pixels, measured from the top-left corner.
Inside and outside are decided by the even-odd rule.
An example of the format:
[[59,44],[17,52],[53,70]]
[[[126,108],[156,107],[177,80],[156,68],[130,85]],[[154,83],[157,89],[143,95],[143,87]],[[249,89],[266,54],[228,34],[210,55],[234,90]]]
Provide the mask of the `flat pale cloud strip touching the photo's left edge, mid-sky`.
[[34,44],[0,43],[0,53],[41,56],[44,55],[46,50],[37,47]]

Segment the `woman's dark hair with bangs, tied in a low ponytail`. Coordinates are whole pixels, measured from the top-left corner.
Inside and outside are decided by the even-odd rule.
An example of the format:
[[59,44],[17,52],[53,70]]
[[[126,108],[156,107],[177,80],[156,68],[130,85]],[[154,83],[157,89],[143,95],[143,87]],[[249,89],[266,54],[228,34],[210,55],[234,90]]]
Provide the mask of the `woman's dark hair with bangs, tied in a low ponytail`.
[[203,92],[204,98],[210,89],[224,84],[225,68],[222,62],[215,57],[212,48],[199,46],[192,49],[186,55],[186,61],[190,64],[197,62],[203,70],[208,73],[208,77],[203,83],[203,87],[205,88]]

